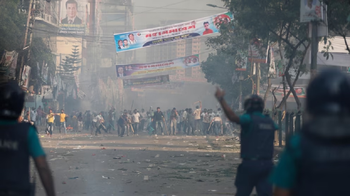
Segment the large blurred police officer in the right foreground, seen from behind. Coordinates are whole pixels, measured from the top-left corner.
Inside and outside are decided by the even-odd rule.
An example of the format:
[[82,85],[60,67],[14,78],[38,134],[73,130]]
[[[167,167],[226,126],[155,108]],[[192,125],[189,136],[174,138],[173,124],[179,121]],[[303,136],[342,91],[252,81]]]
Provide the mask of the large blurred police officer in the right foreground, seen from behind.
[[271,175],[275,195],[349,195],[349,77],[332,69],[316,76],[307,88],[306,112]]

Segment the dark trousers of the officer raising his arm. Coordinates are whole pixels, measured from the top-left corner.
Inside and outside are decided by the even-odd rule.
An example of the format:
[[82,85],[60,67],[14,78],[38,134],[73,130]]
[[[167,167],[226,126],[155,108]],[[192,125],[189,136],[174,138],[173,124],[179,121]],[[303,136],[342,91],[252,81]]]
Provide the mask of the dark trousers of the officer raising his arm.
[[255,187],[258,196],[272,196],[268,176],[273,168],[271,160],[243,160],[237,168],[236,196],[249,196]]

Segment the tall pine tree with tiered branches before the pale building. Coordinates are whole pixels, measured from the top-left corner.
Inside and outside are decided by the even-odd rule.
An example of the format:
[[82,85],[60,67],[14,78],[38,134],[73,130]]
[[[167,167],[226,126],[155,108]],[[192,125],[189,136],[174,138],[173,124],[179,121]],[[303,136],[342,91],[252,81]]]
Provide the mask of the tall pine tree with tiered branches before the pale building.
[[79,70],[81,66],[76,66],[76,64],[82,62],[82,59],[79,59],[79,46],[73,45],[72,54],[69,56],[65,56],[65,59],[62,59],[59,64],[59,68],[57,69],[59,75],[61,76],[63,81],[71,81],[74,80],[74,72]]

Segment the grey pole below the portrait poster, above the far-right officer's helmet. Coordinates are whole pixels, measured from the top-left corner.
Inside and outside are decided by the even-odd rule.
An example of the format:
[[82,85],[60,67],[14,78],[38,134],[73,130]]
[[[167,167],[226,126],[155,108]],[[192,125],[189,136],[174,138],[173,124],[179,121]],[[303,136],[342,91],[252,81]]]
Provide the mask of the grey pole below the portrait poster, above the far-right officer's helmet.
[[318,52],[318,33],[317,21],[311,22],[311,65],[310,65],[310,80],[313,80],[317,73],[317,52]]

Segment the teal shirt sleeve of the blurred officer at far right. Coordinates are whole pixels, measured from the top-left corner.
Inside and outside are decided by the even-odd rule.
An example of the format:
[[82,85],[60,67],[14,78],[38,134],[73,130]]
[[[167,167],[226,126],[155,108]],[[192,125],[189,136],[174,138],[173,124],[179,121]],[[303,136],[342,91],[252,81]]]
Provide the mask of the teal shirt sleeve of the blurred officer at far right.
[[288,147],[281,153],[279,163],[274,168],[269,180],[276,187],[290,190],[295,186],[298,172],[297,163],[301,158],[299,134],[290,138]]

